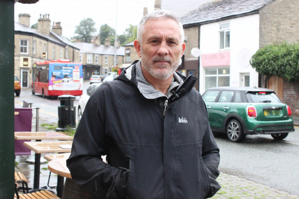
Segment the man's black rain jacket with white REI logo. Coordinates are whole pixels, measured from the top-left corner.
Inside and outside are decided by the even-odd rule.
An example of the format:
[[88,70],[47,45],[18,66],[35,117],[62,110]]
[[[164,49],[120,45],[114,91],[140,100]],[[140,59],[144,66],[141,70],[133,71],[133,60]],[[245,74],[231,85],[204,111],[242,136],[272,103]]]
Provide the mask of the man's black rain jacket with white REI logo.
[[212,197],[220,189],[219,148],[193,89],[197,78],[180,75],[184,83],[168,100],[147,99],[135,64],[130,69],[90,96],[67,160],[72,179],[93,198]]

